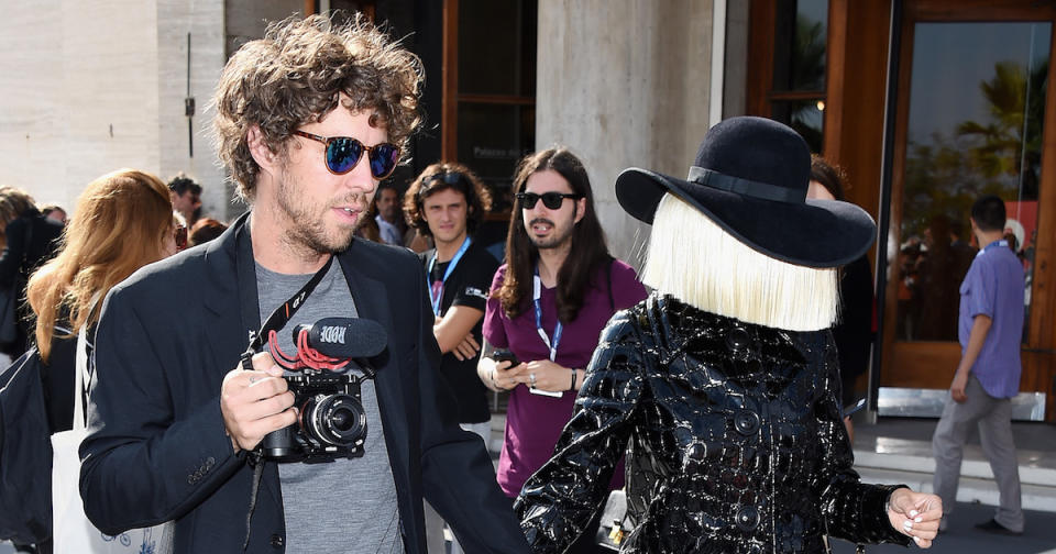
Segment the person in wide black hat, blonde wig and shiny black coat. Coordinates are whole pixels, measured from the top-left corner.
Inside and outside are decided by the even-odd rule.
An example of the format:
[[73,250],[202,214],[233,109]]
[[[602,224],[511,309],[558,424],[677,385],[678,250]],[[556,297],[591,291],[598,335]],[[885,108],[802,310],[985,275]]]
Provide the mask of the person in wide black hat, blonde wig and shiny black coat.
[[876,225],[807,200],[810,167],[791,129],[735,118],[708,131],[689,179],[617,178],[624,209],[653,225],[642,281],[656,292],[609,321],[553,458],[521,491],[536,552],[583,531],[625,446],[622,552],[823,552],[825,535],[931,546],[938,497],[851,469],[828,329],[837,267]]

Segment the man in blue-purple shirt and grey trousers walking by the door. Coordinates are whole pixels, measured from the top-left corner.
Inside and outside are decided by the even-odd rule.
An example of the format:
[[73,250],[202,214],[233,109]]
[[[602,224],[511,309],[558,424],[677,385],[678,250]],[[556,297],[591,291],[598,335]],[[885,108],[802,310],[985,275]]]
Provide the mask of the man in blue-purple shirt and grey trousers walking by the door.
[[[1020,341],[1023,336],[1023,266],[1002,240],[1004,202],[985,196],[971,207],[971,231],[979,254],[960,284],[960,363],[949,399],[932,437],[934,490],[946,514],[954,510],[960,459],[972,425],[979,425],[982,451],[1000,491],[992,520],[977,529],[1001,534],[1023,532],[1019,463],[1012,442],[1012,397],[1020,390]],[[946,529],[946,516],[941,530]]]

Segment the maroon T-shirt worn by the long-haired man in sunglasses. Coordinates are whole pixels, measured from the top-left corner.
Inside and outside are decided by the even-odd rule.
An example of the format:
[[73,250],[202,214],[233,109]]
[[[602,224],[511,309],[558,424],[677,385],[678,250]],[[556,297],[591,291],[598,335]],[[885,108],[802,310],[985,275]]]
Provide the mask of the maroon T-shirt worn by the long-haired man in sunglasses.
[[[638,282],[638,275],[627,264],[615,261],[612,265],[613,306],[608,301],[608,285],[605,282],[606,268],[603,266],[594,276],[594,282],[602,284],[592,288],[583,299],[583,306],[575,320],[564,324],[561,343],[554,363],[564,367],[584,368],[597,347],[597,340],[605,323],[616,310],[635,306],[646,298],[646,288]],[[549,359],[550,351],[536,331],[536,312],[531,308],[531,298],[527,309],[510,320],[503,311],[496,291],[502,287],[506,265],[495,272],[492,293],[484,312],[484,340],[492,346],[509,350],[521,362]],[[556,289],[542,287],[539,295],[542,306],[542,329],[553,337],[558,313]],[[571,376],[569,377],[571,384]],[[565,391],[561,398],[532,395],[528,387],[518,385],[510,391],[506,411],[506,433],[503,453],[498,458],[498,485],[508,497],[516,497],[531,474],[542,467],[558,444],[561,431],[572,419],[575,395]],[[613,476],[615,488],[623,486],[623,464]]]

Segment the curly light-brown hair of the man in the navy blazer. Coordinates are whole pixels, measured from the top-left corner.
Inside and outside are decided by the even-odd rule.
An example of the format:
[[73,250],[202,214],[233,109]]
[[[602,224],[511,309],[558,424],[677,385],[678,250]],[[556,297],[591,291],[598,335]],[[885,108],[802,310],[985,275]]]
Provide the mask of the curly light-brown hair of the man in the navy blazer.
[[264,144],[286,156],[290,133],[322,120],[341,104],[371,110],[371,125],[406,152],[421,123],[418,99],[425,71],[418,56],[355,14],[337,25],[322,15],[287,18],[267,26],[231,56],[213,95],[213,133],[220,159],[252,200],[260,166],[250,154],[249,130],[257,125]]

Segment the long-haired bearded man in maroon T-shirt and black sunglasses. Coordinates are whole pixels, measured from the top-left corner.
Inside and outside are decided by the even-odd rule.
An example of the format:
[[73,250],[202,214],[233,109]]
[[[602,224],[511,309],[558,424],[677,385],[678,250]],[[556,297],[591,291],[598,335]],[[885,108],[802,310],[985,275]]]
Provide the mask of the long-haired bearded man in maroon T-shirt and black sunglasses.
[[[609,255],[586,169],[572,153],[527,156],[514,191],[506,259],[492,282],[477,364],[487,387],[510,390],[498,462],[510,501],[553,454],[602,328],[646,298],[635,270]],[[623,485],[617,476],[614,488]],[[586,538],[568,552],[593,550]]]

